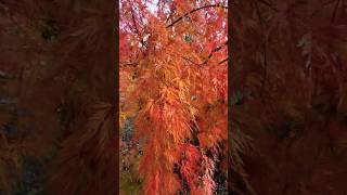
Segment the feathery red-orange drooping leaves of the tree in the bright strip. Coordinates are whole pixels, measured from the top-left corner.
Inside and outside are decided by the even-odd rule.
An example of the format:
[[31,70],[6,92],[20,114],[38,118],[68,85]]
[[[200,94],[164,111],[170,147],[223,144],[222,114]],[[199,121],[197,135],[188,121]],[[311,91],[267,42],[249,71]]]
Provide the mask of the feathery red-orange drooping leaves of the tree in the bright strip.
[[[136,138],[143,144],[139,166],[143,192],[176,194],[183,179],[191,194],[213,194],[216,159],[206,153],[209,150],[221,153],[217,145],[228,135],[228,66],[219,64],[228,51],[221,49],[213,57],[209,54],[217,43],[227,40],[226,30],[219,30],[227,22],[227,13],[214,11],[220,8],[201,9],[170,26],[205,4],[184,0],[159,4],[164,9],[155,9],[155,14],[141,9],[138,13],[133,8],[138,26],[150,36],[144,40],[147,47],[141,48],[136,57],[137,67],[130,70],[137,73],[133,88],[124,89],[125,104],[132,101],[139,105]],[[132,22],[127,20],[123,23],[131,28]],[[123,53],[125,58],[134,57],[133,53]],[[176,172],[175,167],[179,169]]]

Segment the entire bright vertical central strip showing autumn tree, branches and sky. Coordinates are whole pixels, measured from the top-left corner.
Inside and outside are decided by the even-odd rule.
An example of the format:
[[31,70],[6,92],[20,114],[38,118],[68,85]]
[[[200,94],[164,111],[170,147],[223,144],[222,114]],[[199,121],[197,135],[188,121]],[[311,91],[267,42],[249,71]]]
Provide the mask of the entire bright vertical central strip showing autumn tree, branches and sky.
[[226,188],[227,3],[119,6],[121,193]]

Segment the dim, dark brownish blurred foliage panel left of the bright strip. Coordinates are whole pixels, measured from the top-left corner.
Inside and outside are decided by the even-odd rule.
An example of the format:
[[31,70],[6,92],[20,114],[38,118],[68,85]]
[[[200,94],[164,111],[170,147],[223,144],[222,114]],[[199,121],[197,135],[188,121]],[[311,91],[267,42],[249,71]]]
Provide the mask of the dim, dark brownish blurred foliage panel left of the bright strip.
[[115,5],[0,1],[0,194],[117,194]]

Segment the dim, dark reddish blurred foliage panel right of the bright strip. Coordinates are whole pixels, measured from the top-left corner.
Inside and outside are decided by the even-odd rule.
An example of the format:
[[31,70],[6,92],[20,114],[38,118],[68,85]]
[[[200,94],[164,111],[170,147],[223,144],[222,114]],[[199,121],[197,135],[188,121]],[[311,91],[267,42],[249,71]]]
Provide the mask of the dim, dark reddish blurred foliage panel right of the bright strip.
[[231,134],[254,145],[233,192],[346,193],[346,1],[249,0],[231,12]]

